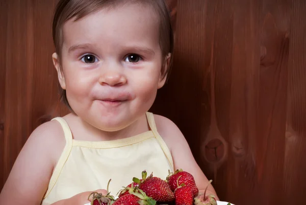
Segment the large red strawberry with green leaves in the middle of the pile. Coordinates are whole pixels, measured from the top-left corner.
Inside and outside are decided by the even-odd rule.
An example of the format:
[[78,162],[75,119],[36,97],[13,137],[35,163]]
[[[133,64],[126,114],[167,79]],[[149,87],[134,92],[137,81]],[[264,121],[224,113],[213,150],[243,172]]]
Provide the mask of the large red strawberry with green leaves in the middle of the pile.
[[174,200],[174,193],[171,191],[168,183],[159,177],[154,177],[153,174],[147,176],[146,171],[142,172],[142,181],[138,178],[133,178],[135,183],[138,183],[138,188],[141,189],[147,196],[152,197],[158,202],[169,202]]

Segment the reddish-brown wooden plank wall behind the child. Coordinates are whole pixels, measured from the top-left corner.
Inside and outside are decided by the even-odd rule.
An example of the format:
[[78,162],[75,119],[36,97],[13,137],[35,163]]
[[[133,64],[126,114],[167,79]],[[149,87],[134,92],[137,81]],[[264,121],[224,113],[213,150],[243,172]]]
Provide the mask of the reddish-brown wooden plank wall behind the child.
[[[58,101],[57,0],[0,1],[0,187]],[[174,66],[151,111],[173,120],[221,200],[305,204],[306,1],[175,0]],[[177,4],[176,4],[177,3]]]

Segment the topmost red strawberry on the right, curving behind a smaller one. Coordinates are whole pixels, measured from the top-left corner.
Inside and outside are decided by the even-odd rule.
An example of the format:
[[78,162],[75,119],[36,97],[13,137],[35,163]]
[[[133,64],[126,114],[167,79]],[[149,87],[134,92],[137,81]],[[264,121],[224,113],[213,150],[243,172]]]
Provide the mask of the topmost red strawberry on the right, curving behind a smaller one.
[[172,191],[174,191],[177,188],[177,179],[179,178],[180,178],[179,180],[180,185],[184,183],[186,186],[191,187],[193,197],[195,197],[199,193],[199,190],[196,187],[193,176],[190,173],[183,171],[182,169],[176,170],[174,173],[170,173],[169,171],[169,175],[167,176],[166,181],[168,182]]

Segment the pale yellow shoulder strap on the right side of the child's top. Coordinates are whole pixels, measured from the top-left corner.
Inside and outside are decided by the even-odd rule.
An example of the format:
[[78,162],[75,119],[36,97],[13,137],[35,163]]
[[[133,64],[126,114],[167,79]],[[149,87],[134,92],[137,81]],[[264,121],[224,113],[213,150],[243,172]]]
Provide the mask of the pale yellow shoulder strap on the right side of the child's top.
[[165,141],[163,140],[163,138],[161,137],[161,135],[157,131],[157,127],[156,127],[156,124],[155,124],[153,113],[147,112],[146,116],[147,116],[147,121],[148,121],[148,124],[150,126],[151,131],[154,133],[155,138],[157,139],[160,146],[162,147],[162,149],[164,151],[164,154],[166,155],[166,157],[168,159],[168,162],[171,165],[172,170],[174,171],[173,158],[172,158],[171,152],[170,152],[167,144],[165,143]]

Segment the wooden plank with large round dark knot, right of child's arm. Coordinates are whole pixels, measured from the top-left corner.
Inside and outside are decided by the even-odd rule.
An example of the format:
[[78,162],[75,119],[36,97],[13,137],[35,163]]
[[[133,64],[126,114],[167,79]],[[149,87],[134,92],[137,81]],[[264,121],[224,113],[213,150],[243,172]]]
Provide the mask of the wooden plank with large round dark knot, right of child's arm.
[[[207,1],[205,12],[207,69],[203,71],[202,86],[206,90],[209,112],[201,112],[201,168],[214,180],[221,200],[226,200],[228,118],[230,115],[233,50],[233,1]],[[208,63],[208,64],[206,64]],[[202,104],[204,102],[202,101]]]

